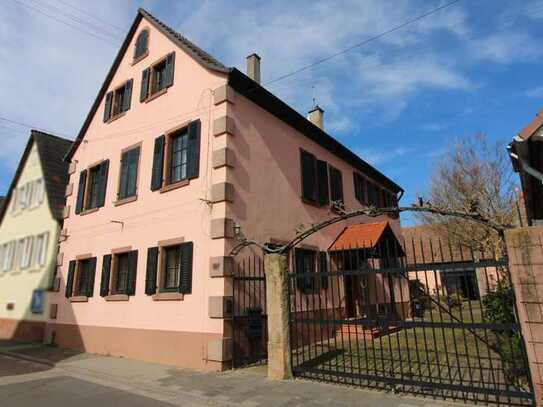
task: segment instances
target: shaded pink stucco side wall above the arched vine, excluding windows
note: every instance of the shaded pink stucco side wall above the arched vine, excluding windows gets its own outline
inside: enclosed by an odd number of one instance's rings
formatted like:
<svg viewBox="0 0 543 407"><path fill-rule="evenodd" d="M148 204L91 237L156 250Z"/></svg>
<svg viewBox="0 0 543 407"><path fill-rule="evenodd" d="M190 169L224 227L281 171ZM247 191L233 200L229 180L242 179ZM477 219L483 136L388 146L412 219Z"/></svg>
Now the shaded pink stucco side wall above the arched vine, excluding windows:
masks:
<svg viewBox="0 0 543 407"><path fill-rule="evenodd" d="M231 175L236 196L228 216L239 222L247 237L288 241L301 224L308 227L332 215L329 206L302 202L300 148L339 169L346 208L361 207L355 199L351 165L243 96L237 95L228 114L236 123L236 136L229 142L236 155ZM354 218L332 225L303 243L326 250L347 224L383 219L389 218ZM399 220L389 220L399 234Z"/></svg>

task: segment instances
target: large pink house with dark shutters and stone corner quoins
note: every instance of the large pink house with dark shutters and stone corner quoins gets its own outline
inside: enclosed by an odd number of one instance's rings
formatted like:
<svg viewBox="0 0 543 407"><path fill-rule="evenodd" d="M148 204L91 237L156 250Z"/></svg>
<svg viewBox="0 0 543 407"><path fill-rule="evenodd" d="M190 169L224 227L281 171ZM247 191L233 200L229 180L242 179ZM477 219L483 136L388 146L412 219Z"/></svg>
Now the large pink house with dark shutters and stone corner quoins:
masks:
<svg viewBox="0 0 543 407"><path fill-rule="evenodd" d="M306 119L259 84L257 55L247 65L138 11L66 157L49 342L227 368L235 232L288 241L331 202L396 205L402 189L328 135L320 108ZM346 226L305 241L304 264L316 269Z"/></svg>

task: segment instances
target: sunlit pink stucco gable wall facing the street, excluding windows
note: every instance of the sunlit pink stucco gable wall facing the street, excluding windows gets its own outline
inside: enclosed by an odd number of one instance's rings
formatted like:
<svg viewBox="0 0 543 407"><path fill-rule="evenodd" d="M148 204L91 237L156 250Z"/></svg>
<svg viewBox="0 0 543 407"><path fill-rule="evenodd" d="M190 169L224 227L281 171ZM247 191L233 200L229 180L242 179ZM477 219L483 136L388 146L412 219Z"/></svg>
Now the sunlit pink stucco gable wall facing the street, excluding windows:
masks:
<svg viewBox="0 0 543 407"><path fill-rule="evenodd" d="M209 238L212 209L205 203L212 182L210 154L212 140L210 123L220 116L223 107L212 104L212 90L225 83L219 74L205 70L177 48L145 20L141 28L150 30L149 55L132 65L134 46L115 73L108 90L113 90L133 78L131 108L123 117L103 122L104 102L77 149L72 162L76 170L70 176L73 193L67 198L70 216L64 227L69 238L60 245L63 263L59 269L61 291L55 322L104 327L172 330L185 332L221 333L222 321L205 318L207 299L224 294L223 279L209 278L210 256L222 255L224 243ZM139 30L138 30L139 31ZM135 41L135 37L134 37ZM134 42L133 41L133 42ZM174 85L166 94L148 102L139 100L142 70L168 53L175 51ZM84 80L84 78L82 78ZM185 122L201 120L200 176L190 184L166 193L152 192L151 169L154 139ZM138 198L122 206L114 206L120 170L121 150L142 143L138 179ZM79 172L104 159L110 160L105 206L88 215L75 215ZM112 221L124 222L124 226ZM184 237L194 242L192 294L183 301L156 302L145 295L145 264L147 248L159 240ZM106 302L99 295L102 256L118 247L132 246L139 250L136 295L125 302ZM76 256L91 253L97 257L94 297L87 303L70 303L64 298L64 281L68 262Z"/></svg>

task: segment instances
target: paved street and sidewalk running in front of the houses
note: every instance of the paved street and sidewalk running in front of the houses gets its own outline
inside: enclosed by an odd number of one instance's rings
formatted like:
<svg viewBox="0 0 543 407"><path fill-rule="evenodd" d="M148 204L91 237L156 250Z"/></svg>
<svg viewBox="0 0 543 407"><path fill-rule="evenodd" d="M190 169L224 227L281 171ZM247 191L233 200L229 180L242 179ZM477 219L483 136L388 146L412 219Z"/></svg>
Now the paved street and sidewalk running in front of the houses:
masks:
<svg viewBox="0 0 543 407"><path fill-rule="evenodd" d="M268 381L265 367L201 373L0 341L0 405L441 407L451 404L302 380Z"/></svg>

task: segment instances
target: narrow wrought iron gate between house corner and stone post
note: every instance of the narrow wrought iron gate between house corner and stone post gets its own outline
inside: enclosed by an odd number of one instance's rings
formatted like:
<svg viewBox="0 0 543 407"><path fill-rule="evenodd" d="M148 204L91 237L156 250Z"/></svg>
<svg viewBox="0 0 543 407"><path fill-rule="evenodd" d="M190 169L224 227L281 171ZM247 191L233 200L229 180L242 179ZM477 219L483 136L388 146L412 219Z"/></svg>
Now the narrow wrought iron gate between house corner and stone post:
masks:
<svg viewBox="0 0 543 407"><path fill-rule="evenodd" d="M233 276L233 366L265 364L268 355L266 279L259 256L237 260Z"/></svg>

